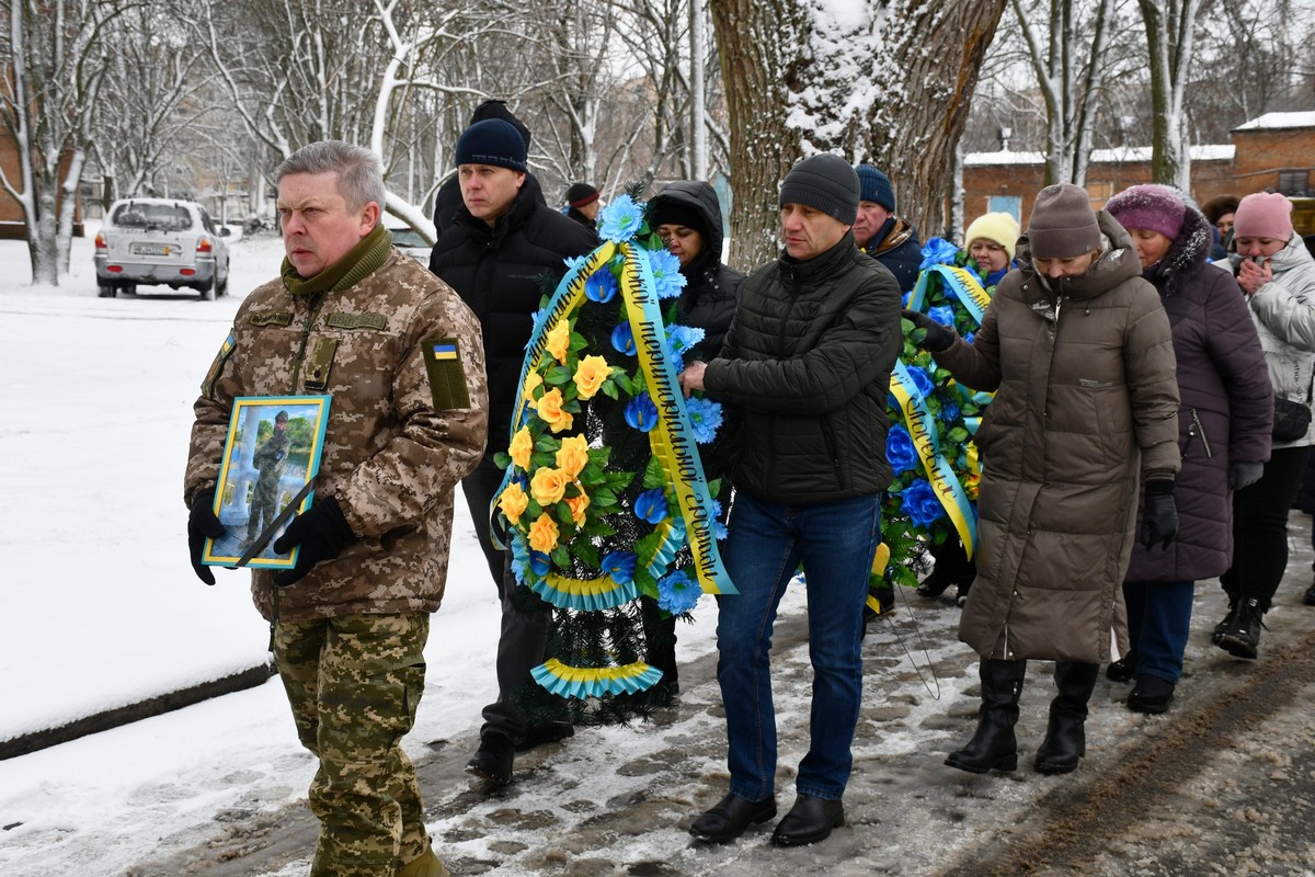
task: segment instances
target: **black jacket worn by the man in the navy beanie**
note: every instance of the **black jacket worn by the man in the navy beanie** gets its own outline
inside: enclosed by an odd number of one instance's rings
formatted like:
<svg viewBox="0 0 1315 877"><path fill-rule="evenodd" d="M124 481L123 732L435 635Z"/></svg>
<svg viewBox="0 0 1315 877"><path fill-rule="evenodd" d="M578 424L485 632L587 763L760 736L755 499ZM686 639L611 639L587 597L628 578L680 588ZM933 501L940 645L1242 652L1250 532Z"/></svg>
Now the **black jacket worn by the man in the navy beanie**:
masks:
<svg viewBox="0 0 1315 877"><path fill-rule="evenodd" d="M484 334L489 454L508 446L521 363L539 300L565 273L565 259L596 246L593 231L543 205L539 184L529 175L492 229L462 204L439 234L429 268L475 312Z"/></svg>

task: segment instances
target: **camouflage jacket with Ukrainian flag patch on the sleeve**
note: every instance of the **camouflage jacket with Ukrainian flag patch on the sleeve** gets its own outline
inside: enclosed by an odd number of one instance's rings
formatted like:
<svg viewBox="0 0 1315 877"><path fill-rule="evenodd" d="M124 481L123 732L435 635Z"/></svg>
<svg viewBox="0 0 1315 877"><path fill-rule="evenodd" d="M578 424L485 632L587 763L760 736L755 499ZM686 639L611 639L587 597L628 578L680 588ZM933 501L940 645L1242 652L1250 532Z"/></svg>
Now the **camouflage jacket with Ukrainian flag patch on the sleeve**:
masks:
<svg viewBox="0 0 1315 877"><path fill-rule="evenodd" d="M426 356L455 341L438 384ZM316 497L335 497L358 540L279 593L295 622L356 613L434 611L451 546L452 489L484 454L488 389L480 325L442 280L396 249L346 289L293 296L272 280L246 297L195 405L183 494L218 479L238 396L329 394ZM455 401L454 401L455 400ZM459 406L458 406L459 405ZM274 573L251 593L275 615Z"/></svg>

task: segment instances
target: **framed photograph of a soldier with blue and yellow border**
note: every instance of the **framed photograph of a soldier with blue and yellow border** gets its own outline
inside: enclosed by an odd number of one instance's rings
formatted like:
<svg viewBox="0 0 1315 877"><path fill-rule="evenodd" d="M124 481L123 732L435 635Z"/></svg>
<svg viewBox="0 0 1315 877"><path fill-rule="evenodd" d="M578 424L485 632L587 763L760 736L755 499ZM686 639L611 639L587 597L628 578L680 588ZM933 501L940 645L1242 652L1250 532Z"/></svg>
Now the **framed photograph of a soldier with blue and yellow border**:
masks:
<svg viewBox="0 0 1315 877"><path fill-rule="evenodd" d="M297 563L297 548L279 555L272 546L288 522L312 505L309 488L320 472L329 402L329 396L233 400L214 492L214 514L226 533L205 540L201 563L271 569Z"/></svg>

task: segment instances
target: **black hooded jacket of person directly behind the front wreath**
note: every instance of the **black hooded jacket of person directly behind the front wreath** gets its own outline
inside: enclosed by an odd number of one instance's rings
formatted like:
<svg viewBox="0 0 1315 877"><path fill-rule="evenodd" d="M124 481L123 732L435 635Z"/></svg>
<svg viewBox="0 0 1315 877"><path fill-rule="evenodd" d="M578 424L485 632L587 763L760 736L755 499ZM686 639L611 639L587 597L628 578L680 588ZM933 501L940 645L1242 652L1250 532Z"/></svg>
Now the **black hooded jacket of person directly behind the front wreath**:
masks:
<svg viewBox="0 0 1315 877"><path fill-rule="evenodd" d="M707 362L722 350L744 275L722 264L722 204L717 189L701 180L677 180L648 201L648 214L656 216L664 205L692 209L704 220L702 227L694 229L704 238L704 249L680 270L685 289L676 304L676 320L705 333L686 360Z"/></svg>

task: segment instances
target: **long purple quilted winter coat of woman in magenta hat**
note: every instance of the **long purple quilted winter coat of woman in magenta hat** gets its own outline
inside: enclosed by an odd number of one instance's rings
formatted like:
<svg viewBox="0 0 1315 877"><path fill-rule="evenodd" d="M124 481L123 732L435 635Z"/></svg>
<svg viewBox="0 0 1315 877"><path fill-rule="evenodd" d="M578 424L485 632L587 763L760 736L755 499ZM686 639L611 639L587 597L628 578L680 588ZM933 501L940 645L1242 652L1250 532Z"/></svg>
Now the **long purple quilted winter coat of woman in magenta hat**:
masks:
<svg viewBox="0 0 1315 877"><path fill-rule="evenodd" d="M1173 327L1182 469L1174 490L1178 538L1151 551L1137 542L1128 581L1197 581L1228 569L1228 462L1269 459L1274 393L1265 355L1237 281L1206 262L1210 245L1210 224L1189 206L1169 251L1143 271Z"/></svg>

